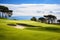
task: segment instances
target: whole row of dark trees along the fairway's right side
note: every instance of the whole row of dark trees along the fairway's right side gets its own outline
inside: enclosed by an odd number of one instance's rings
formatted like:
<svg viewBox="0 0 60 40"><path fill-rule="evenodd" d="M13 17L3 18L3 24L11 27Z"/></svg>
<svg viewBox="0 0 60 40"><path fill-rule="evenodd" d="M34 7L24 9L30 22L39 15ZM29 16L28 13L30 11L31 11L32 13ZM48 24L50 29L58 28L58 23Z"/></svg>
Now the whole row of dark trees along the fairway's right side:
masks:
<svg viewBox="0 0 60 40"><path fill-rule="evenodd" d="M38 19L36 17L32 17L31 20L38 21L41 23L54 24L56 23L57 17L54 15L44 15L43 17L40 17ZM57 22L60 24L60 20L57 20Z"/></svg>

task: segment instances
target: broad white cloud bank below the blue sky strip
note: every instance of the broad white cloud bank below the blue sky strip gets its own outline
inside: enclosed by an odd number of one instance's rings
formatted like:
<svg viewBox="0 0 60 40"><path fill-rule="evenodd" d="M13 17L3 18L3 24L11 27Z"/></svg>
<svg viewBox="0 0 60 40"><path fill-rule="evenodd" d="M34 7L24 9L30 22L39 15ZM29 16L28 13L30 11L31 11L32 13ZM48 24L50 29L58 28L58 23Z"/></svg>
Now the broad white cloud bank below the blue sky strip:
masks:
<svg viewBox="0 0 60 40"><path fill-rule="evenodd" d="M1 4L13 10L13 16L43 16L53 14L60 17L59 4ZM53 11L50 13L50 11Z"/></svg>

